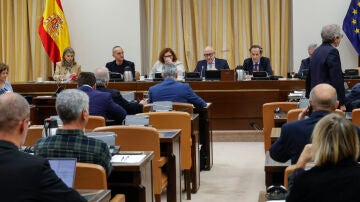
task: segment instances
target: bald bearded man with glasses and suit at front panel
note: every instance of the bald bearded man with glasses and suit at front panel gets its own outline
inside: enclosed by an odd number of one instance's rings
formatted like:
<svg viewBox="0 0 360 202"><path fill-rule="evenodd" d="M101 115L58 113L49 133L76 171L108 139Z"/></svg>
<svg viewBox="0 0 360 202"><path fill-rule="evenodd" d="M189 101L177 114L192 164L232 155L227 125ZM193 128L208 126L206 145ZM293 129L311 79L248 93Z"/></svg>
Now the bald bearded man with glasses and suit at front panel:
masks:
<svg viewBox="0 0 360 202"><path fill-rule="evenodd" d="M229 69L229 64L226 60L216 58L215 50L211 46L206 46L204 49L205 60L200 60L196 64L194 72L200 72L202 77L205 77L206 70L222 70Z"/></svg>

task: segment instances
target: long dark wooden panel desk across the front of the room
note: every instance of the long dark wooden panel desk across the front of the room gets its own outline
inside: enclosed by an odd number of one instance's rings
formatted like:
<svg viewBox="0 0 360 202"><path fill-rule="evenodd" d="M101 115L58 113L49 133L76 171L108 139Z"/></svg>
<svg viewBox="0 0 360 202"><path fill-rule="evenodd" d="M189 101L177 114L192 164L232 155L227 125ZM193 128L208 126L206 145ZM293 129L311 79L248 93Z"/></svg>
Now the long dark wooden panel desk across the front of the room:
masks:
<svg viewBox="0 0 360 202"><path fill-rule="evenodd" d="M351 88L359 79L346 80ZM108 88L135 91L141 99L143 92L159 82L118 82ZM304 80L267 81L194 81L188 82L206 102L212 103L211 120L214 130L248 130L251 122L262 127L262 105L267 102L285 101L294 90L304 90ZM58 87L76 88L76 83L56 84L13 83L15 92L23 95L51 95Z"/></svg>

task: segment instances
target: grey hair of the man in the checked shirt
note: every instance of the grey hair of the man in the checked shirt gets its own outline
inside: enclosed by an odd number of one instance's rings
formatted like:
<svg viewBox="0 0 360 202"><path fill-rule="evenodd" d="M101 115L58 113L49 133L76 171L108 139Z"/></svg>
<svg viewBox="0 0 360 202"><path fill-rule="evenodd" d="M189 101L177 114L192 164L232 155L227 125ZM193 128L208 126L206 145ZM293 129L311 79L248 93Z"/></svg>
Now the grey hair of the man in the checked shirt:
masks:
<svg viewBox="0 0 360 202"><path fill-rule="evenodd" d="M56 98L56 112L64 124L78 119L84 109L89 111L89 96L80 90L63 90Z"/></svg>

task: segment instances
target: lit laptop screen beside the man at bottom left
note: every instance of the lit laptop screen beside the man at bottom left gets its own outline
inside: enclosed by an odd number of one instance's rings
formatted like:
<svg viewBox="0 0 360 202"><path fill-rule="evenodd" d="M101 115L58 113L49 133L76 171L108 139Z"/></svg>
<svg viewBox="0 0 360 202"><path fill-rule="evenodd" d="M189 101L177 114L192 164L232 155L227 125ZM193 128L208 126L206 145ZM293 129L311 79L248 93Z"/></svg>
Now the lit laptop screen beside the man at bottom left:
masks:
<svg viewBox="0 0 360 202"><path fill-rule="evenodd" d="M74 187L76 158L48 158L51 169L70 188Z"/></svg>

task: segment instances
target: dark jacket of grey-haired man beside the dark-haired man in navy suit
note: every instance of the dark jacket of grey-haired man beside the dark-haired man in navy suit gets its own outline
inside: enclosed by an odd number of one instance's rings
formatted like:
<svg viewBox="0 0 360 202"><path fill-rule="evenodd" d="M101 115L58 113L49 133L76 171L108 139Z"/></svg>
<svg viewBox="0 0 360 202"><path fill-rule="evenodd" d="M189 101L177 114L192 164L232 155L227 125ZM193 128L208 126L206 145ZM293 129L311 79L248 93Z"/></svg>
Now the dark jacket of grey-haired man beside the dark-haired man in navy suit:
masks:
<svg viewBox="0 0 360 202"><path fill-rule="evenodd" d="M96 90L110 93L114 102L122 106L126 110L127 114L137 114L143 112L142 104L136 102L128 102L122 97L120 91L118 90L105 88L105 87L96 87Z"/></svg>

